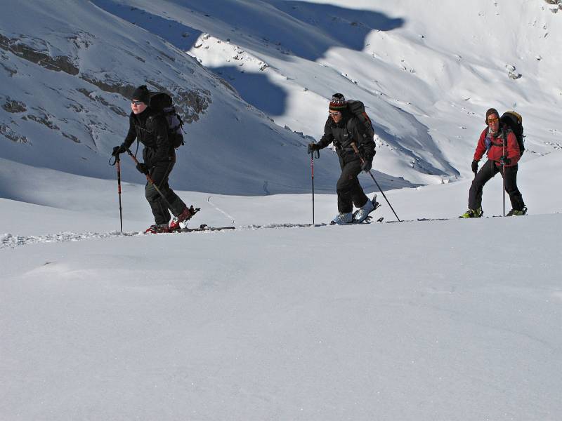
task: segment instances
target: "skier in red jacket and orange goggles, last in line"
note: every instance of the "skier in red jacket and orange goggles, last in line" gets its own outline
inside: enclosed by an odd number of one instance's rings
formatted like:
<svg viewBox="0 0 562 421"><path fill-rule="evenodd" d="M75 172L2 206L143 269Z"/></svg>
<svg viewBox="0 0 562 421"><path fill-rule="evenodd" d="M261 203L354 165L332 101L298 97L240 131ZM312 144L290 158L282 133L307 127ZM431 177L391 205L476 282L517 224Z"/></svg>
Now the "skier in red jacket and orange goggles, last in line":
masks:
<svg viewBox="0 0 562 421"><path fill-rule="evenodd" d="M521 158L519 144L513 131L507 126L500 128L499 113L495 108L486 112L485 128L478 139L476 152L472 161L472 172L475 173L474 180L469 192L469 210L461 215L461 218L480 218L482 211L482 190L484 185L497 173L502 174L505 180L505 191L509 194L511 210L507 214L525 215L527 208L523 202L523 196L517 188L517 162ZM505 143L505 144L504 144ZM486 152L488 161L478 171L478 161Z"/></svg>

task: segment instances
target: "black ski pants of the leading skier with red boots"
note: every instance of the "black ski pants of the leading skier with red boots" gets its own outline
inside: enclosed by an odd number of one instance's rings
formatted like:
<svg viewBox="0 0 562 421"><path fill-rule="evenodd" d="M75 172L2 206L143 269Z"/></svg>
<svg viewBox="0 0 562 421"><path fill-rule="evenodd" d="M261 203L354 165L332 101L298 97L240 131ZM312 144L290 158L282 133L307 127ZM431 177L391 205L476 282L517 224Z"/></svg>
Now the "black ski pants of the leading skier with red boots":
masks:
<svg viewBox="0 0 562 421"><path fill-rule="evenodd" d="M166 201L171 206L171 210L174 215L179 215L185 209L185 203L180 199L180 197L174 193L168 184L168 177L171 173L174 164L176 163L176 157L171 156L170 161L159 162L152 168L150 168L150 178L155 182L160 192L166 198ZM145 186L145 196L146 200L150 204L150 209L152 209L152 215L154 215L154 221L157 225L164 225L170 221L170 212L166 202L162 199L162 196L157 192L154 185L150 182L146 183Z"/></svg>

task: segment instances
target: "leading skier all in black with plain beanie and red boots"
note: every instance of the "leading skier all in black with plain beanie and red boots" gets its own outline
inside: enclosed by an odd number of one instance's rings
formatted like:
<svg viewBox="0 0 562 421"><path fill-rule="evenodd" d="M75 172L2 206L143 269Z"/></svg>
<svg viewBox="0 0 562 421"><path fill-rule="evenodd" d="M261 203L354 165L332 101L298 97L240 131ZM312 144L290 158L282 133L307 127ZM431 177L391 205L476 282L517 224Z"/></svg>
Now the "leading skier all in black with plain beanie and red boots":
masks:
<svg viewBox="0 0 562 421"><path fill-rule="evenodd" d="M150 91L143 85L133 92L131 99L131 114L129 115L129 133L122 145L113 148L112 155L126 152L133 142L138 139L144 145L143 160L136 169L150 175L158 189L171 206L174 218L170 221L170 213L166 202L159 195L154 185L146 183L145 196L152 209L155 225L150 226L146 233L171 232L180 228L180 222L192 217L190 208L174 193L168 184L168 177L176 163L176 152L168 139L168 123L164 116L157 115L148 103Z"/></svg>

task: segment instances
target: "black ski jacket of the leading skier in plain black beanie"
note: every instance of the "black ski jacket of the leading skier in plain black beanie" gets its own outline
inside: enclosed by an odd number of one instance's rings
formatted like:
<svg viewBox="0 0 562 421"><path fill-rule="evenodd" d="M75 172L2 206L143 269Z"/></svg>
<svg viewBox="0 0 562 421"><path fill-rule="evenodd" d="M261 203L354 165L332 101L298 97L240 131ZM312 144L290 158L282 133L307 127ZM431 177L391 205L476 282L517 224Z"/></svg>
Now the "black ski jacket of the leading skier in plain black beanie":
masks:
<svg viewBox="0 0 562 421"><path fill-rule="evenodd" d="M135 140L144 145L143 160L148 167L168 163L174 158L174 147L168 139L168 123L164 116L158 116L150 107L141 114L131 112L129 115L129 133L123 146L129 148Z"/></svg>

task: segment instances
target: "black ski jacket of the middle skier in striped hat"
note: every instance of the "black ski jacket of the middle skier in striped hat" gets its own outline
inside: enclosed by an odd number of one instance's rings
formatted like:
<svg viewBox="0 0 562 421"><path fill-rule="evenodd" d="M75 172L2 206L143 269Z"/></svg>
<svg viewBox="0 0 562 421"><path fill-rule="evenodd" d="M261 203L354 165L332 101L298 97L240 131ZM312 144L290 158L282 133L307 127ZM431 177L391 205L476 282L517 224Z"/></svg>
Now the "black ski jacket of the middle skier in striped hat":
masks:
<svg viewBox="0 0 562 421"><path fill-rule="evenodd" d="M374 156L374 140L369 136L363 136L365 129L363 128L357 117L348 112L344 112L343 118L339 123L335 123L332 117L328 117L324 126L324 135L318 142L320 149L327 147L330 143L334 143L336 153L339 158L348 163L360 159L358 154L351 147L351 143L355 142L359 149L359 153L366 161L370 161Z"/></svg>

